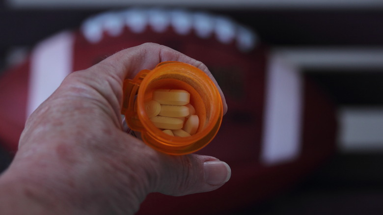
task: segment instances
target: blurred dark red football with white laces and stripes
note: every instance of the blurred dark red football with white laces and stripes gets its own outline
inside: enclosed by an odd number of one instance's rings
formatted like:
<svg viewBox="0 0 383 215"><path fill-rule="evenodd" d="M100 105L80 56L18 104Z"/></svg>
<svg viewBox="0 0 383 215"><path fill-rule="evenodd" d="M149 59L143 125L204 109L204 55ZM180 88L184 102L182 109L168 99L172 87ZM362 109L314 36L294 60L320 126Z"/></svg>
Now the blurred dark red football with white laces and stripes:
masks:
<svg viewBox="0 0 383 215"><path fill-rule="evenodd" d="M129 8L89 17L78 29L36 44L25 61L2 73L0 147L17 151L28 115L68 74L153 42L203 62L218 81L228 112L216 138L197 153L227 162L232 178L208 193L152 193L138 214L222 214L270 198L335 152L335 105L273 56L255 30L219 14L182 9Z"/></svg>

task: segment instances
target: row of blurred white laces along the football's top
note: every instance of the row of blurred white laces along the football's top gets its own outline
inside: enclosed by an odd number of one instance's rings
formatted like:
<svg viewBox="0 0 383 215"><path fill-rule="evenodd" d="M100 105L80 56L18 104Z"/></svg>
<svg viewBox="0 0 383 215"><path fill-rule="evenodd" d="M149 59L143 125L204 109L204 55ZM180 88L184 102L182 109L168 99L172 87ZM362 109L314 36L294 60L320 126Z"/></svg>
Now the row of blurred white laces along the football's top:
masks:
<svg viewBox="0 0 383 215"><path fill-rule="evenodd" d="M214 34L223 44L235 40L238 49L243 52L251 51L257 43L257 36L252 30L228 17L183 9L130 8L105 12L85 20L81 29L89 42L98 43L104 31L110 36L119 36L125 26L134 33L142 33L148 26L157 33L163 33L171 26L180 35L187 35L193 30L198 37L206 39Z"/></svg>

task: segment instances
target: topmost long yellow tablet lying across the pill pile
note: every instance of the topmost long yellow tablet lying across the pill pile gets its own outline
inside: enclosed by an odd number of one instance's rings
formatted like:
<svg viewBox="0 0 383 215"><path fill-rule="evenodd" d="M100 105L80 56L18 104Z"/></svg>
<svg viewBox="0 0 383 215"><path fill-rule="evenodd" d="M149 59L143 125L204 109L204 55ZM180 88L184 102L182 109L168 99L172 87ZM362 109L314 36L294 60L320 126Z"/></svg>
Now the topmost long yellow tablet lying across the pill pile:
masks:
<svg viewBox="0 0 383 215"><path fill-rule="evenodd" d="M179 89L159 89L153 92L153 100L161 105L186 105L190 102L190 93Z"/></svg>

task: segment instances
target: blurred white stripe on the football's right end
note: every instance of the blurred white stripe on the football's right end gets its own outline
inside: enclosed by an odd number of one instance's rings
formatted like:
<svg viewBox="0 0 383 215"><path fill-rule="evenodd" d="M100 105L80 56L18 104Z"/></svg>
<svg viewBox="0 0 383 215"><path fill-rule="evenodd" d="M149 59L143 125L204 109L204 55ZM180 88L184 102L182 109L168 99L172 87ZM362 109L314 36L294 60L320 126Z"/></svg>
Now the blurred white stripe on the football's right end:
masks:
<svg viewBox="0 0 383 215"><path fill-rule="evenodd" d="M267 165L292 161L301 151L301 75L274 54L266 84L261 161Z"/></svg>

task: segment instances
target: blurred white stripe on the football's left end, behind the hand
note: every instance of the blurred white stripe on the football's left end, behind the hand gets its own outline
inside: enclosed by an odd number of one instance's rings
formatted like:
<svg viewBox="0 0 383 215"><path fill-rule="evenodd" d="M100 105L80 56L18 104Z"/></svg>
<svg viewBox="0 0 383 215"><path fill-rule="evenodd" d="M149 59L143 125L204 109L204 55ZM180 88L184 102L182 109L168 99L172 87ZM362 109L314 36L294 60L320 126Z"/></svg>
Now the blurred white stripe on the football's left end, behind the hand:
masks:
<svg viewBox="0 0 383 215"><path fill-rule="evenodd" d="M72 72L73 34L61 32L39 43L31 55L27 100L29 116Z"/></svg>

